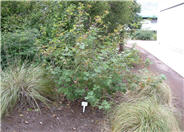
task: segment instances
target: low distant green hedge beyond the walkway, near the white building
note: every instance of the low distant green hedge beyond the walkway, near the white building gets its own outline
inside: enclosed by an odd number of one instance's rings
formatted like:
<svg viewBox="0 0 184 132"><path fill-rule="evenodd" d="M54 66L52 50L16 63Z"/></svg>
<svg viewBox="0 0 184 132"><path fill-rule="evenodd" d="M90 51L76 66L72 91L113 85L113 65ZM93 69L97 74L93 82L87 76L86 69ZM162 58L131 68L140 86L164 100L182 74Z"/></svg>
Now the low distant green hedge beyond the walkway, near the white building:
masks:
<svg viewBox="0 0 184 132"><path fill-rule="evenodd" d="M150 30L137 30L132 37L135 40L156 40L156 32Z"/></svg>

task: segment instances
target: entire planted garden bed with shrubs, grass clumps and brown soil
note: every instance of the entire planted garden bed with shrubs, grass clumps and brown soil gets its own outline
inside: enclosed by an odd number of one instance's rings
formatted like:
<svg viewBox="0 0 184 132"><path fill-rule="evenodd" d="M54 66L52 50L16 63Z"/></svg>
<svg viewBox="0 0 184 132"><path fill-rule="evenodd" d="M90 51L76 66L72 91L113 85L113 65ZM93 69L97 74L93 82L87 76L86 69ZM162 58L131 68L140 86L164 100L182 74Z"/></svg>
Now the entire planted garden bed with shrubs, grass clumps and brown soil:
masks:
<svg viewBox="0 0 184 132"><path fill-rule="evenodd" d="M155 74L170 70L123 47L139 10L135 1L3 2L2 131L179 132L166 77ZM168 81L182 108L181 82Z"/></svg>

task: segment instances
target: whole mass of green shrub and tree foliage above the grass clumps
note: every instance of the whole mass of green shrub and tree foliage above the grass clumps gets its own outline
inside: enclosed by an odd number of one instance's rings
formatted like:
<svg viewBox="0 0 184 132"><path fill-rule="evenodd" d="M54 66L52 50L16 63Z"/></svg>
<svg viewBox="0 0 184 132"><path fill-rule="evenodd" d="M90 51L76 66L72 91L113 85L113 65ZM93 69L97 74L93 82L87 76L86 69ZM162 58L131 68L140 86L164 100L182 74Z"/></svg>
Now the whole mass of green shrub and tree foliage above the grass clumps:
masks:
<svg viewBox="0 0 184 132"><path fill-rule="evenodd" d="M124 74L139 62L135 50L117 53L139 9L135 1L4 1L1 64L42 63L58 93L108 109L110 96L126 91Z"/></svg>

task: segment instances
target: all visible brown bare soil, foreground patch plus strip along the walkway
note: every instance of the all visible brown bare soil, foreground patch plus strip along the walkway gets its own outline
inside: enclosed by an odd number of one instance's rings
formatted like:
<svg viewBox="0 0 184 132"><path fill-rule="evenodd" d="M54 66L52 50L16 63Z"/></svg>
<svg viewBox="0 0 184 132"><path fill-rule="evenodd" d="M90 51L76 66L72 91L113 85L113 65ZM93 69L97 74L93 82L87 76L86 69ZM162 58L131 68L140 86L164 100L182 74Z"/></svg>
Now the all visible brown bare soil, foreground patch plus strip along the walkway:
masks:
<svg viewBox="0 0 184 132"><path fill-rule="evenodd" d="M148 69L157 74L165 74L173 95L173 105L180 127L184 130L184 78L159 59L136 47L142 59L149 58ZM142 67L139 67L142 68ZM80 101L53 105L51 110L41 108L42 113L28 108L14 110L1 120L2 132L103 132L105 115L103 111L88 106L82 113Z"/></svg>

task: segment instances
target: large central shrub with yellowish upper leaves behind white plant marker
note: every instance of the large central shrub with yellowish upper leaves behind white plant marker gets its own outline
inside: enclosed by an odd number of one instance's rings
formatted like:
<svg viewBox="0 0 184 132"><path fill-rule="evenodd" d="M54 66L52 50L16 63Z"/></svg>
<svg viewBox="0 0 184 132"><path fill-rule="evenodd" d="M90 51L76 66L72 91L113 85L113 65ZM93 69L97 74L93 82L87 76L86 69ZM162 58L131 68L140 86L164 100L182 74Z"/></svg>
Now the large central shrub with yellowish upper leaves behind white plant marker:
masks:
<svg viewBox="0 0 184 132"><path fill-rule="evenodd" d="M121 72L128 72L133 63L138 63L137 52L131 49L117 53L123 27L118 26L114 33L106 35L103 18L108 13L96 16L89 29L82 23L89 17L82 3L79 7L68 6L63 14L66 15L62 23L53 23L55 28L50 30L50 37L43 28L37 41L45 67L55 77L58 92L67 99L85 99L92 106L109 109L109 96L126 91ZM70 18L74 19L68 30L65 27Z"/></svg>

